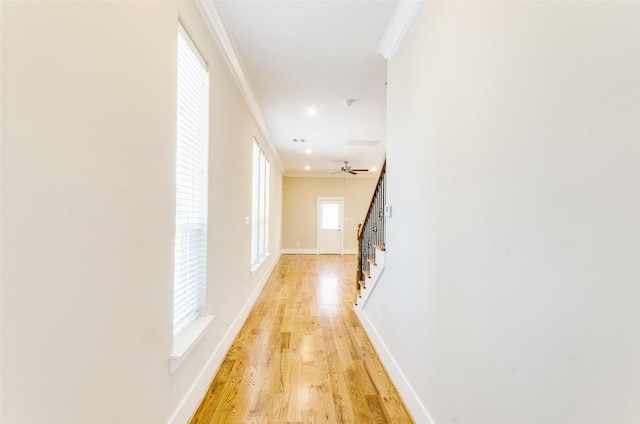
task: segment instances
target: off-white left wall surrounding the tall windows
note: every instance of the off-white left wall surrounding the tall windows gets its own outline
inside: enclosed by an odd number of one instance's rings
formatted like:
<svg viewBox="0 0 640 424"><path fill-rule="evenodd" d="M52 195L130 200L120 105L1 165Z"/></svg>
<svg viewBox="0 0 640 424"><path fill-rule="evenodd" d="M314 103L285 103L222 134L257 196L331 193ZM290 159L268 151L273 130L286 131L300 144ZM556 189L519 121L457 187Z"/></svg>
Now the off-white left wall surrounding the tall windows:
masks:
<svg viewBox="0 0 640 424"><path fill-rule="evenodd" d="M191 2L1 7L0 421L188 416L277 259L251 274L244 219L258 128ZM178 19L211 75L216 318L170 375ZM282 178L272 169L278 252Z"/></svg>

